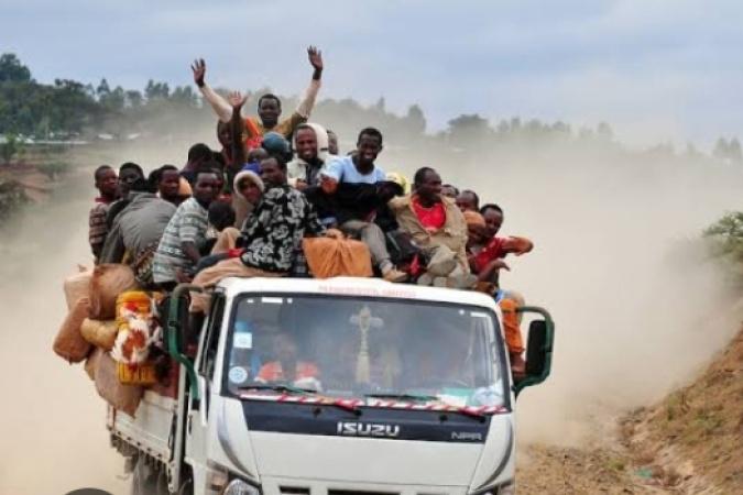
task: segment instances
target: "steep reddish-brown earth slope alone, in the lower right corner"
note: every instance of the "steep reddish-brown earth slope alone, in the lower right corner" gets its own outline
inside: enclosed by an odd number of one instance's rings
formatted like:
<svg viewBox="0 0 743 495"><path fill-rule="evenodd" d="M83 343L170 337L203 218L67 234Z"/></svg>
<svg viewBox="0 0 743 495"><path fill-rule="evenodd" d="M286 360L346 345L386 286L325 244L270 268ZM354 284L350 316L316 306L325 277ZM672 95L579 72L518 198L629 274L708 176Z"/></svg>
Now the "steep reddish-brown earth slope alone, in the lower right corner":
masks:
<svg viewBox="0 0 743 495"><path fill-rule="evenodd" d="M691 385L625 421L629 447L684 493L743 493L743 331Z"/></svg>

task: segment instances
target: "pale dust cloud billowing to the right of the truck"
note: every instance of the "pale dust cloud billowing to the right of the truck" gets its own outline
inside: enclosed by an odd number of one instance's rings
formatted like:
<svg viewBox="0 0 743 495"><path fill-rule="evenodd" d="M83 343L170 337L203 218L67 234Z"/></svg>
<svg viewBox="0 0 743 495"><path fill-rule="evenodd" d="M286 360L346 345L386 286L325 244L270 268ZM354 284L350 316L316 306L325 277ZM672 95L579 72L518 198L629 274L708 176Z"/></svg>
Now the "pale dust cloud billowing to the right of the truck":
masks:
<svg viewBox="0 0 743 495"><path fill-rule="evenodd" d="M535 242L509 257L502 286L557 326L551 376L518 399L522 442L600 439L618 415L688 383L737 331L743 312L700 234L740 208L743 170L560 146L458 165L440 167L445 182L473 186L505 210L503 234Z"/></svg>

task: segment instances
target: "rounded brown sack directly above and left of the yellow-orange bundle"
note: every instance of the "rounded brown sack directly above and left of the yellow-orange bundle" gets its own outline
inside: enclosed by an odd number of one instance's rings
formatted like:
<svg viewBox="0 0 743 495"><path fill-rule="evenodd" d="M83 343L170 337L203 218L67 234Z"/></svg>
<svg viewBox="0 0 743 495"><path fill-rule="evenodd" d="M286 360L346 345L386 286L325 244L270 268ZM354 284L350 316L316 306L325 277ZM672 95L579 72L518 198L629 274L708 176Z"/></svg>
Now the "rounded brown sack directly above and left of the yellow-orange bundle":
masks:
<svg viewBox="0 0 743 495"><path fill-rule="evenodd" d="M120 264L98 265L90 278L90 311L94 320L111 320L116 317L116 299L119 294L136 288L134 272Z"/></svg>

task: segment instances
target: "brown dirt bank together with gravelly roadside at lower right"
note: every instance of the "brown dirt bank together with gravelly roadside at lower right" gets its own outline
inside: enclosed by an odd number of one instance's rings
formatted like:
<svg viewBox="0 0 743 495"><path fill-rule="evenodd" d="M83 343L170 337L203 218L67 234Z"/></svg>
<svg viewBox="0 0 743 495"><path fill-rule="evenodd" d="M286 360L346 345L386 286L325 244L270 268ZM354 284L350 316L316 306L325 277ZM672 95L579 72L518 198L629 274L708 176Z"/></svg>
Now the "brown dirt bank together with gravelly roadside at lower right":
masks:
<svg viewBox="0 0 743 495"><path fill-rule="evenodd" d="M743 493L743 330L690 385L593 446L527 446L522 494Z"/></svg>

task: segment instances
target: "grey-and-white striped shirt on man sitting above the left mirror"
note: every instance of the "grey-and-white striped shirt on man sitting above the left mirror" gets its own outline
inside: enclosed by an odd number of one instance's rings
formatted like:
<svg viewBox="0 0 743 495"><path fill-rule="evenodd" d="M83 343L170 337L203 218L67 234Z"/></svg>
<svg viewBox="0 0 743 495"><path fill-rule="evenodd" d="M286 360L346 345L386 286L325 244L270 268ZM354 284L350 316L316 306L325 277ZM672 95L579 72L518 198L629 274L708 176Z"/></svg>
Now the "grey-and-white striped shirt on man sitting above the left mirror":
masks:
<svg viewBox="0 0 743 495"><path fill-rule="evenodd" d="M204 242L208 227L208 211L195 198L188 198L178 206L165 228L153 261L153 279L156 284L175 282L177 268L190 272L196 266L183 252L184 242L199 245Z"/></svg>

